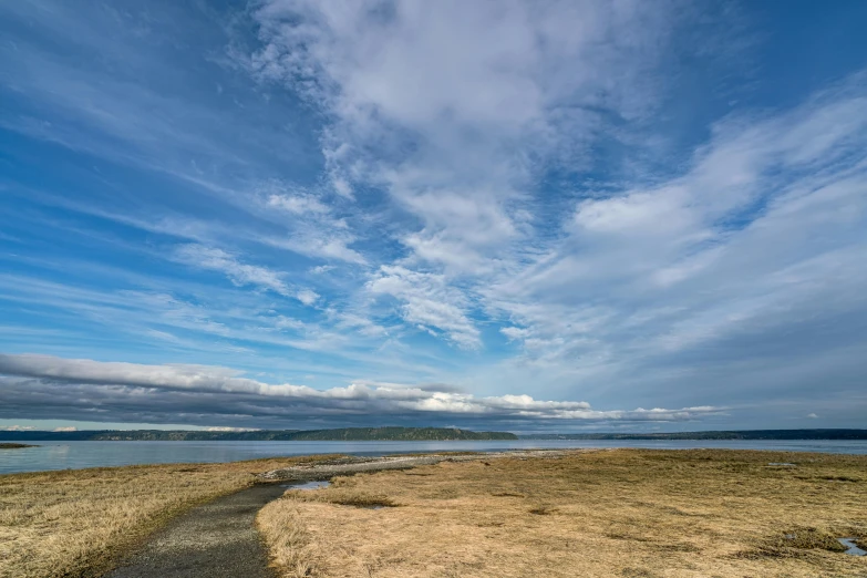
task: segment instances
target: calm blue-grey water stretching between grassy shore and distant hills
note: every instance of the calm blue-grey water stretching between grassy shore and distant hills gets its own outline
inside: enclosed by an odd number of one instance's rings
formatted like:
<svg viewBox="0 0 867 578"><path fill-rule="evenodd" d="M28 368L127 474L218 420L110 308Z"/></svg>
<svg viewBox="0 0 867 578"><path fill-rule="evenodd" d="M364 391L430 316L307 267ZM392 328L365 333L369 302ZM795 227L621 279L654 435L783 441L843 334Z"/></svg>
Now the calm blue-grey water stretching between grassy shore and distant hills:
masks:
<svg viewBox="0 0 867 578"><path fill-rule="evenodd" d="M597 441L512 440L483 442L27 442L40 447L0 450L0 474L82 467L192 462L236 462L311 454L384 455L414 452L502 452L569 447L696 447L867 454L867 441Z"/></svg>

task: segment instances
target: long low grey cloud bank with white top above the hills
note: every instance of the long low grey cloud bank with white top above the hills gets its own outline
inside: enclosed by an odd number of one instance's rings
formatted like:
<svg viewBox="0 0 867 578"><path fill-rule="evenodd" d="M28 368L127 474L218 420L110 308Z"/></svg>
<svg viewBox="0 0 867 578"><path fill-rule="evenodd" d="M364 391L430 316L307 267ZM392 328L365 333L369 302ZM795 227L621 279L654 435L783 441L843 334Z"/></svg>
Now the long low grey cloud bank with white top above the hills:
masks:
<svg viewBox="0 0 867 578"><path fill-rule="evenodd" d="M257 427L293 420L359 423L401 416L525 424L550 420L657 422L698 420L720 412L710 406L600 411L586 402L540 401L529 395L477 398L435 385L363 381L316 390L268 384L218 367L143 365L28 354L0 355L0 416L34 419L65 407L68 419L89 414L102 421L136 416L138 421L177 423L186 416L186 423L221 419Z"/></svg>

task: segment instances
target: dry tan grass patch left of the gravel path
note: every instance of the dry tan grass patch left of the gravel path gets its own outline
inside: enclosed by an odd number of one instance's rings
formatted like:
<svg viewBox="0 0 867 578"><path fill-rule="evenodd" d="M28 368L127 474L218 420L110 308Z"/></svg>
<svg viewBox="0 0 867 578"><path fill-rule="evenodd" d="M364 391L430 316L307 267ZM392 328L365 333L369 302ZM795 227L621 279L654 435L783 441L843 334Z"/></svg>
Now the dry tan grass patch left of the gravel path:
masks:
<svg viewBox="0 0 867 578"><path fill-rule="evenodd" d="M318 458L0 476L0 577L100 576L171 517L251 485L255 473L311 460Z"/></svg>

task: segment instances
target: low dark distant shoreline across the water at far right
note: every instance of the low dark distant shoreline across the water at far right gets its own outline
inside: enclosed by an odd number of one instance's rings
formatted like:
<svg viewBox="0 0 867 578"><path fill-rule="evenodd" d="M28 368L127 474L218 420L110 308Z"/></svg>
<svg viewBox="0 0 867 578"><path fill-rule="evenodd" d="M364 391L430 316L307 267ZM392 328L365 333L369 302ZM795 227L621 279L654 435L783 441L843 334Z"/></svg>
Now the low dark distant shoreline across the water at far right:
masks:
<svg viewBox="0 0 867 578"><path fill-rule="evenodd" d="M672 433L533 434L522 440L867 440L867 430L743 430Z"/></svg>

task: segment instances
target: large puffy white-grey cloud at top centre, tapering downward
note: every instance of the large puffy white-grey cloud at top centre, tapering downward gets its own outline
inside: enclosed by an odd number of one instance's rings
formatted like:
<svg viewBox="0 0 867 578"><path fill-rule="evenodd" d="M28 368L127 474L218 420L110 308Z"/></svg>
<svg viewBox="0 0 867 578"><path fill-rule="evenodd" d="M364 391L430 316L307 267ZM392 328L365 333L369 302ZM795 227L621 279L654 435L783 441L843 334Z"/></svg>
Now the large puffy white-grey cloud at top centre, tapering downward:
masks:
<svg viewBox="0 0 867 578"><path fill-rule="evenodd" d="M244 64L326 111L338 190L384 186L422 223L402 236L413 255L465 275L525 238L537 165L584 163L594 111L653 109L646 68L677 20L632 1L271 0L255 18L262 47Z"/></svg>

